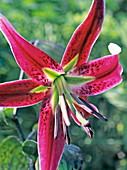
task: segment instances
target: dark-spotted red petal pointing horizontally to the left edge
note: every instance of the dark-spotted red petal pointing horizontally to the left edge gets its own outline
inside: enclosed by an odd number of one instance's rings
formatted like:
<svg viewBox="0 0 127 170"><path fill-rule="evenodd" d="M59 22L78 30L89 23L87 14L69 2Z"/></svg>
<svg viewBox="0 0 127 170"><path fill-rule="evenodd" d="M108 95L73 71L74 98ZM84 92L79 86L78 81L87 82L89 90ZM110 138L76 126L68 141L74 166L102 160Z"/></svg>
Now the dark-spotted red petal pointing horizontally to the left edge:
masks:
<svg viewBox="0 0 127 170"><path fill-rule="evenodd" d="M0 84L0 107L23 107L40 102L45 92L30 93L38 86L31 79Z"/></svg>

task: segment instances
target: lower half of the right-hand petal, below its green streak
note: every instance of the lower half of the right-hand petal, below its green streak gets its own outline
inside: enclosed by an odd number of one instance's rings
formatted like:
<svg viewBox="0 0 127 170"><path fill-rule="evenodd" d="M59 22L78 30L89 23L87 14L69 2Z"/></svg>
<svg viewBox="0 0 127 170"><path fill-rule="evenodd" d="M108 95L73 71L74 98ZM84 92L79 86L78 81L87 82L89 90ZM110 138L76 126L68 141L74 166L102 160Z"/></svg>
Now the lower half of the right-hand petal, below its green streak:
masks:
<svg viewBox="0 0 127 170"><path fill-rule="evenodd" d="M98 72L99 74L94 74L96 75L96 80L78 86L73 85L70 87L72 92L79 96L97 95L117 86L122 81L122 67L119 62L117 62L116 66L114 65L112 70L106 71L105 65L102 68L105 70L104 72L100 71Z"/></svg>

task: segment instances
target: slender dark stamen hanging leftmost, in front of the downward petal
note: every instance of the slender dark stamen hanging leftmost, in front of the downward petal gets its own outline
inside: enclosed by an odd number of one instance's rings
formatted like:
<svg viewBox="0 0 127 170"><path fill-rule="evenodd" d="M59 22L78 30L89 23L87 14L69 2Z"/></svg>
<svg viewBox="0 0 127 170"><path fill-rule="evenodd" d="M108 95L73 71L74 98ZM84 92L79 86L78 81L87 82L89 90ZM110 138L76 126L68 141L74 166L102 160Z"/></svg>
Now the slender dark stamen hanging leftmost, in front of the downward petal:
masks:
<svg viewBox="0 0 127 170"><path fill-rule="evenodd" d="M54 139L58 138L59 134L59 122L60 122L60 106L56 106L56 111L55 111L55 124L54 124Z"/></svg>

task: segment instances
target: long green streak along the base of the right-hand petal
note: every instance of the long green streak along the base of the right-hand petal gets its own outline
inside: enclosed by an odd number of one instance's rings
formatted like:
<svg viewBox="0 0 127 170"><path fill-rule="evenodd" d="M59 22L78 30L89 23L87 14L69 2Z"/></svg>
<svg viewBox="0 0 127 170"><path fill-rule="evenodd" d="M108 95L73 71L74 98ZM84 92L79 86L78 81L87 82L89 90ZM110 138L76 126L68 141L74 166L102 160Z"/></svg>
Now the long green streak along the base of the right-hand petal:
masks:
<svg viewBox="0 0 127 170"><path fill-rule="evenodd" d="M65 79L68 84L74 84L74 85L79 85L79 84L84 84L88 83L90 81L93 81L95 78L94 77L83 77L83 76L65 76Z"/></svg>

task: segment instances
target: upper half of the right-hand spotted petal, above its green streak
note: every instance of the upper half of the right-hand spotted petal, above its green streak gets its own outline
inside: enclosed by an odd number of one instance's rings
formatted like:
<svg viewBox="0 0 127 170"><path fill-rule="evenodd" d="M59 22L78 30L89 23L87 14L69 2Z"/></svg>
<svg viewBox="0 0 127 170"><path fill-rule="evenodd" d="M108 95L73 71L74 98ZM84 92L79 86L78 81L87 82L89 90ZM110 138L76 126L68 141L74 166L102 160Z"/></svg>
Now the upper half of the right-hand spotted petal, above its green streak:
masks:
<svg viewBox="0 0 127 170"><path fill-rule="evenodd" d="M103 77L112 72L117 67L118 62L118 55L104 56L75 67L69 72L69 75Z"/></svg>

